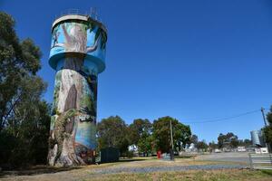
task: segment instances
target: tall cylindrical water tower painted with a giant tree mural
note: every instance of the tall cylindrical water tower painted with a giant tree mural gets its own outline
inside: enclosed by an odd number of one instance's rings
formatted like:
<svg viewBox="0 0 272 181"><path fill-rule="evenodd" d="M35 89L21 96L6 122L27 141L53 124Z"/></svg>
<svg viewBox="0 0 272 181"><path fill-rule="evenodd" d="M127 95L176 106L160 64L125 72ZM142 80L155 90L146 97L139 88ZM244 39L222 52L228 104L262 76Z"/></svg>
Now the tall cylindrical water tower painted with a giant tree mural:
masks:
<svg viewBox="0 0 272 181"><path fill-rule="evenodd" d="M56 71L48 163L94 161L97 76L105 69L107 30L92 15L66 14L52 26L50 66Z"/></svg>

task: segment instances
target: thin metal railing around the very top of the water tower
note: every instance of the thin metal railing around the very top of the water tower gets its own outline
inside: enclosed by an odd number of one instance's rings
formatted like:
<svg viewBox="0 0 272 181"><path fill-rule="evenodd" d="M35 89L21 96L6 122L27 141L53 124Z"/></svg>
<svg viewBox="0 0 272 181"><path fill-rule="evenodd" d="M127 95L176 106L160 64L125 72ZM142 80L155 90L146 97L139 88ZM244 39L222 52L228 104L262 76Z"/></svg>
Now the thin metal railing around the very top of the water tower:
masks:
<svg viewBox="0 0 272 181"><path fill-rule="evenodd" d="M102 22L102 18L98 15L97 9L91 7L90 11L81 11L79 9L67 9L63 12L61 12L61 14L57 14L54 16L53 22L62 17L63 15L84 15L84 16L89 16L91 17L93 20L100 22L101 24L105 25L105 22Z"/></svg>

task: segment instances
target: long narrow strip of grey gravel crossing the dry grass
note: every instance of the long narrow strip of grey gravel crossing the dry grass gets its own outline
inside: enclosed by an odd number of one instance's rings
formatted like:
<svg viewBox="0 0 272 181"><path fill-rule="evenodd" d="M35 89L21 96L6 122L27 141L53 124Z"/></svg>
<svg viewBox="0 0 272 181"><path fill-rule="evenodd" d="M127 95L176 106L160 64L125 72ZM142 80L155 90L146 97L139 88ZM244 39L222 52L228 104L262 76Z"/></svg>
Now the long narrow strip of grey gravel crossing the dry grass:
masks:
<svg viewBox="0 0 272 181"><path fill-rule="evenodd" d="M166 171L184 171L184 170L211 170L211 169L230 169L246 168L241 165L199 165L199 166L171 166L171 167L111 167L93 171L95 174L116 174L116 173L151 173Z"/></svg>

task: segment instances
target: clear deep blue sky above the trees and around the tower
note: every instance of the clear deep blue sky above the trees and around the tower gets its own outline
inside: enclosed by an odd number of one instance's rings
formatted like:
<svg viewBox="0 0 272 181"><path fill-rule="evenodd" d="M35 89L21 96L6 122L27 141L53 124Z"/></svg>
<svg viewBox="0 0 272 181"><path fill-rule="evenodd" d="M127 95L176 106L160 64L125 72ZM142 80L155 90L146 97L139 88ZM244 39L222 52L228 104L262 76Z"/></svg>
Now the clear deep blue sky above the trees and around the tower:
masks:
<svg viewBox="0 0 272 181"><path fill-rule="evenodd" d="M44 53L39 75L53 100L48 65L51 24L66 9L100 10L109 30L106 71L99 76L98 120L171 116L181 122L224 118L272 104L272 3L269 0L1 0L20 38ZM2 25L2 24L0 24ZM202 119L204 118L204 119ZM232 131L250 138L260 112L189 126L200 139Z"/></svg>

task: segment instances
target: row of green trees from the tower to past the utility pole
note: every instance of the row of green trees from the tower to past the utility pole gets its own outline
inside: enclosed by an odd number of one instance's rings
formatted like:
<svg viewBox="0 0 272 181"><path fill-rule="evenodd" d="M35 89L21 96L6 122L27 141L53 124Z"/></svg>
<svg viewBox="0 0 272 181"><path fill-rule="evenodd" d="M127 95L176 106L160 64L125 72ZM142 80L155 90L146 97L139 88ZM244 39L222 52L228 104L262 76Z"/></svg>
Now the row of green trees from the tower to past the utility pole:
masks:
<svg viewBox="0 0 272 181"><path fill-rule="evenodd" d="M190 143L189 126L180 123L178 119L169 116L155 119L134 119L130 125L119 116L102 119L98 123L98 149L119 148L121 156L127 156L129 146L134 146L144 155L151 155L160 150L170 152L170 122L172 126L173 145L175 151L180 151Z"/></svg>

